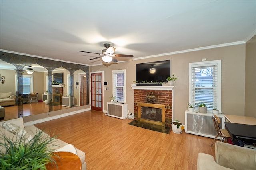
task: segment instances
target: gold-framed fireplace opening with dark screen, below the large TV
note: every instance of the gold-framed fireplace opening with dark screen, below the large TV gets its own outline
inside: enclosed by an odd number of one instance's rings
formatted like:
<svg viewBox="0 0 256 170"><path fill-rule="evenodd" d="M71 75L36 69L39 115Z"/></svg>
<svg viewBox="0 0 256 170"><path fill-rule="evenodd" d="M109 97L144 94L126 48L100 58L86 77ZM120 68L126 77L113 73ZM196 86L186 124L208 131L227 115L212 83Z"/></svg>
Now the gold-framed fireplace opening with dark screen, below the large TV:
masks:
<svg viewBox="0 0 256 170"><path fill-rule="evenodd" d="M165 105L138 103L138 120L164 126Z"/></svg>

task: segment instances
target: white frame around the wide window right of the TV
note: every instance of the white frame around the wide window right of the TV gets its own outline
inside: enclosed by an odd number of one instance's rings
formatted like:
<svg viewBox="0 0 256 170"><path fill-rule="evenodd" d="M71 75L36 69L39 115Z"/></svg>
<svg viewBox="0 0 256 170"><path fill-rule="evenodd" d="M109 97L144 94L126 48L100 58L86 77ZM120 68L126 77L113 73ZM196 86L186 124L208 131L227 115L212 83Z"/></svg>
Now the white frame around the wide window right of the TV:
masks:
<svg viewBox="0 0 256 170"><path fill-rule="evenodd" d="M192 104L192 68L194 67L200 67L200 66L213 66L217 65L217 101L216 104L217 109L221 112L221 60L213 60L213 61L202 61L202 62L195 62L195 63L189 63L189 103ZM194 104L193 104L194 105ZM196 106L197 107L197 106ZM212 109L208 109L208 112L211 112Z"/></svg>

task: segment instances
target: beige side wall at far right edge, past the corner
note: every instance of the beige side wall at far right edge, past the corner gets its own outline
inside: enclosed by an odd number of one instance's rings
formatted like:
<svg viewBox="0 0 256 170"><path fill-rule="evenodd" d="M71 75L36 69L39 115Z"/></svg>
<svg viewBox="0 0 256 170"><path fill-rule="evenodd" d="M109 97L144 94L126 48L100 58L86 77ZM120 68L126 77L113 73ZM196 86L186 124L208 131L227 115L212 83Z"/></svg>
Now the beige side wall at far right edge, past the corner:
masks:
<svg viewBox="0 0 256 170"><path fill-rule="evenodd" d="M246 43L245 115L256 117L256 35Z"/></svg>

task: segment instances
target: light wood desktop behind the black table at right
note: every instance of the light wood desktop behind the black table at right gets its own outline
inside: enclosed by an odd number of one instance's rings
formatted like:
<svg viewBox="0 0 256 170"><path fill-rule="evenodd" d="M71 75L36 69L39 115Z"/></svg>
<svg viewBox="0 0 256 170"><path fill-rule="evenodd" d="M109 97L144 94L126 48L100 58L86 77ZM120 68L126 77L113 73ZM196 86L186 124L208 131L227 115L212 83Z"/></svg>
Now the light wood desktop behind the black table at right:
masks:
<svg viewBox="0 0 256 170"><path fill-rule="evenodd" d="M226 117L226 121L230 123L256 125L255 117L237 116L237 115L225 115L225 117Z"/></svg>

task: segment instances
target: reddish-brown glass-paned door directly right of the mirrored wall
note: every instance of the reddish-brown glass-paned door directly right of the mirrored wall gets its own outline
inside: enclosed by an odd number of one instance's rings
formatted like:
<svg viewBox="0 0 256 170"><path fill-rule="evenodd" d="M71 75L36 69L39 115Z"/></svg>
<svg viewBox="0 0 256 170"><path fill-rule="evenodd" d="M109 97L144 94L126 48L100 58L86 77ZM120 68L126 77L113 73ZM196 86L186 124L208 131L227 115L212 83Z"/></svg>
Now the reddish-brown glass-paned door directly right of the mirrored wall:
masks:
<svg viewBox="0 0 256 170"><path fill-rule="evenodd" d="M91 109L102 111L102 73L91 74Z"/></svg>

